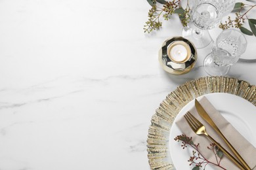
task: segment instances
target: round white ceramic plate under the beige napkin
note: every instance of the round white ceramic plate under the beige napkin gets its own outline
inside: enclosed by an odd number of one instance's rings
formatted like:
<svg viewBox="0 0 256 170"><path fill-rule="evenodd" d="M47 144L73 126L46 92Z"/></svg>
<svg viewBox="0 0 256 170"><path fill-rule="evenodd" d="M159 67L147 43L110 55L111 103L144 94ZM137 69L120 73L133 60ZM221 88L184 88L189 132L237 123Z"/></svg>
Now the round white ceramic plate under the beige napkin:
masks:
<svg viewBox="0 0 256 170"><path fill-rule="evenodd" d="M228 93L210 93L205 95L205 97L207 97L215 109L219 110L224 118L226 118L226 120L228 120L228 122L230 122L230 124L232 124L232 126L234 126L245 137L245 139L256 147L256 108L254 105L242 97ZM200 99L201 97L198 98ZM175 122L193 106L194 100L190 101L190 103L188 103L181 112L179 112L174 120L173 126L171 127L170 154L176 169L192 169L192 166L188 163L192 150L182 150L180 143L173 139L177 135L182 134ZM210 165L207 166L207 170L213 169Z"/></svg>

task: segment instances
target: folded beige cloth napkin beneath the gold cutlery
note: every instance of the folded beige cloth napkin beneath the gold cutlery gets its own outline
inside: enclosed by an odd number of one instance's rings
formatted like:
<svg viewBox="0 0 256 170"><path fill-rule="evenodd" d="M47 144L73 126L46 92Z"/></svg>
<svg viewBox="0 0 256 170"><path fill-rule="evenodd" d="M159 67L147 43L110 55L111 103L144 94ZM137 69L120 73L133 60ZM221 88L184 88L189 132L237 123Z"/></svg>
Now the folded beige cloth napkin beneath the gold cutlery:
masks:
<svg viewBox="0 0 256 170"><path fill-rule="evenodd" d="M219 127L223 135L228 139L228 141L236 148L240 156L244 158L244 160L247 162L249 167L251 169L256 169L256 148L252 146L214 107L211 105L211 103L207 100L206 97L203 97L200 99L200 104L202 105L203 109L209 114L209 116L213 119L213 122ZM232 151L228 148L226 143L224 143L223 139L217 135L217 133L201 118L201 116L198 114L196 107L193 107L191 110L189 110L191 114L193 114L202 124L205 126L205 129L215 141L221 144L230 154L234 156ZM182 133L187 135L188 137L193 137L193 141L195 144L200 143L200 150L203 150L202 154L205 156L205 158L208 158L209 160L216 162L215 156L213 152L209 149L207 149L207 146L209 146L211 141L204 135L196 135L194 131L188 126L188 123L186 122L184 116L180 120L176 122L177 126L181 129ZM239 169L232 163L232 161L228 160L226 156L223 156L221 160L221 165L225 167L226 169ZM215 167L215 169L219 169L219 167Z"/></svg>

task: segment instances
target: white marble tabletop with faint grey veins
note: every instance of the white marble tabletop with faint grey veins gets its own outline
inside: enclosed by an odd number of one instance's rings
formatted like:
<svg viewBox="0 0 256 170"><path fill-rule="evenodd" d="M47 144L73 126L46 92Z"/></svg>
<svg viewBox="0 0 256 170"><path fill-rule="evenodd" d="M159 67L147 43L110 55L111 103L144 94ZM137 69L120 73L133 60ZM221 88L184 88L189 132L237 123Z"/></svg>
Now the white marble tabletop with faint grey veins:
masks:
<svg viewBox="0 0 256 170"><path fill-rule="evenodd" d="M150 169L150 119L165 96L206 76L158 63L177 16L143 33L145 1L0 1L0 169ZM256 40L256 39L255 39ZM228 73L256 84L255 61Z"/></svg>

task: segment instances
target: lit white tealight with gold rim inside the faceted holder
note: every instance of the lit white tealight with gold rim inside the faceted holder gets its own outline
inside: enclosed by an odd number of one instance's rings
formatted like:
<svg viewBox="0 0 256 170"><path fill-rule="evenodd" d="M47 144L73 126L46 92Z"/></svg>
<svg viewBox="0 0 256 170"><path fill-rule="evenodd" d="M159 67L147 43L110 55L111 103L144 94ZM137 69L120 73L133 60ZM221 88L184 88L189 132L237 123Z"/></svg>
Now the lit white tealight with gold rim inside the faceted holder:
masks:
<svg viewBox="0 0 256 170"><path fill-rule="evenodd" d="M184 63L185 61L188 61L190 55L190 47L184 41L175 41L168 47L169 59L176 63Z"/></svg>

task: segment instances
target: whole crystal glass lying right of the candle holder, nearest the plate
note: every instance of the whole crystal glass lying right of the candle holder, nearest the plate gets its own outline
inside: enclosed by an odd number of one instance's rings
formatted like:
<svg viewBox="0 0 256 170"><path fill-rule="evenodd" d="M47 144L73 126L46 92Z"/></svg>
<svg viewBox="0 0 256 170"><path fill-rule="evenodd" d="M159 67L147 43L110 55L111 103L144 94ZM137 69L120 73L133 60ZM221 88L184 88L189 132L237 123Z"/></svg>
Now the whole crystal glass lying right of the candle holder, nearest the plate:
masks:
<svg viewBox="0 0 256 170"><path fill-rule="evenodd" d="M226 75L246 50L247 41L241 31L226 29L218 37L213 45L211 54L203 61L208 75Z"/></svg>

